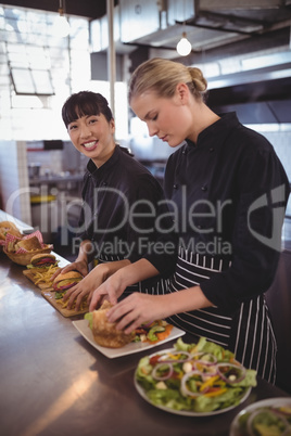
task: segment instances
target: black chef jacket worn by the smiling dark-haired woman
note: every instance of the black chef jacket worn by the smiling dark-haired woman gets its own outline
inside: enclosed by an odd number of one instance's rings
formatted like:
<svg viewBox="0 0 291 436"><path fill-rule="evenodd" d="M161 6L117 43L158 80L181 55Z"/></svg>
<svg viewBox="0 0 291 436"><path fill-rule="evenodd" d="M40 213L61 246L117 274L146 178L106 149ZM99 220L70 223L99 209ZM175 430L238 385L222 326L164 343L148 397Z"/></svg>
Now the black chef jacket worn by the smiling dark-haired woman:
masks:
<svg viewBox="0 0 291 436"><path fill-rule="evenodd" d="M143 165L116 145L100 168L88 162L81 196L78 236L92 242L98 259L134 262L146 257L162 274L173 272L176 257L170 233L163 244L154 245L172 220L161 184Z"/></svg>

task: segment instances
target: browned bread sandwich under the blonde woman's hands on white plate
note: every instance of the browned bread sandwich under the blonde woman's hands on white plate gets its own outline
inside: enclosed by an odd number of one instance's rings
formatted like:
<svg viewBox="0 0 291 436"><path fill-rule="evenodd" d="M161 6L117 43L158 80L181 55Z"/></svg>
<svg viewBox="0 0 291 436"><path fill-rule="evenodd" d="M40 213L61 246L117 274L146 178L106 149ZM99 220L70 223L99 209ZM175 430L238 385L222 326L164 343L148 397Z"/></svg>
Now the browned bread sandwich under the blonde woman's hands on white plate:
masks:
<svg viewBox="0 0 291 436"><path fill-rule="evenodd" d="M98 345L107 348L124 347L134 339L135 333L126 334L116 329L115 322L109 322L106 313L111 307L110 302L104 302L98 310L86 313L85 319L89 321L94 342Z"/></svg>

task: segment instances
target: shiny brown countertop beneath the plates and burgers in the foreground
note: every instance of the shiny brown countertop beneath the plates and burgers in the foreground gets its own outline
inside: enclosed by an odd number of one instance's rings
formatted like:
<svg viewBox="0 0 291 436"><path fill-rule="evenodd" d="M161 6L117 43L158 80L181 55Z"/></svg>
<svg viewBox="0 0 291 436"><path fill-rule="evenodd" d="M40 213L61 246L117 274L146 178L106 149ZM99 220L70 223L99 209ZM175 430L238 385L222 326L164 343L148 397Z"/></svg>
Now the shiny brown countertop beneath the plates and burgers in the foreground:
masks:
<svg viewBox="0 0 291 436"><path fill-rule="evenodd" d="M65 265L65 259L56 257ZM147 351L106 358L80 336L71 318L64 318L41 296L23 269L0 253L2 435L228 435L243 405L211 418L181 416L154 408L134 386L135 369ZM288 394L258 380L244 406L282 396Z"/></svg>

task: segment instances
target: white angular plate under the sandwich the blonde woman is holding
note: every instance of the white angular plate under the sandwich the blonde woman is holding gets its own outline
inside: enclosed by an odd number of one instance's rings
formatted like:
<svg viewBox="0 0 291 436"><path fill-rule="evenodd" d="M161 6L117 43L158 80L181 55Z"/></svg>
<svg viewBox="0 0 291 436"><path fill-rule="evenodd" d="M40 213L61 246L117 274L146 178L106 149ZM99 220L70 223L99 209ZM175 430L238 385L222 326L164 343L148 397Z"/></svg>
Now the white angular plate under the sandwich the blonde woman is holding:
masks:
<svg viewBox="0 0 291 436"><path fill-rule="evenodd" d="M110 359L114 359L115 357L122 357L127 355L132 355L134 352L144 351L147 349L156 347L157 345L162 345L168 341L176 339L179 336L182 336L185 332L176 326L173 326L170 334L166 339L160 341L156 344L149 344L148 342L131 342L130 344L125 345L122 348L106 348L101 347L94 342L92 331L89 328L89 323L87 320L78 320L72 321L74 326L79 331L79 333L85 337L86 341L89 342L96 349L102 352L104 356Z"/></svg>

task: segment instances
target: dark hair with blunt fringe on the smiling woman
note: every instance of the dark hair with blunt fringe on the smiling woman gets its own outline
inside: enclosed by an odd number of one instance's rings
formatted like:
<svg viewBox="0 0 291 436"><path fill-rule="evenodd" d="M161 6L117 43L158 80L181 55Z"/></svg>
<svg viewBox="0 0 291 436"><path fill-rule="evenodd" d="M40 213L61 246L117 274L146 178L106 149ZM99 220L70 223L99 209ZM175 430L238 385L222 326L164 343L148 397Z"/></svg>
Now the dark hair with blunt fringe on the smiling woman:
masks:
<svg viewBox="0 0 291 436"><path fill-rule="evenodd" d="M113 118L107 100L100 93L92 91L80 91L72 94L62 108L65 127L81 116L100 114L103 114L107 121Z"/></svg>

